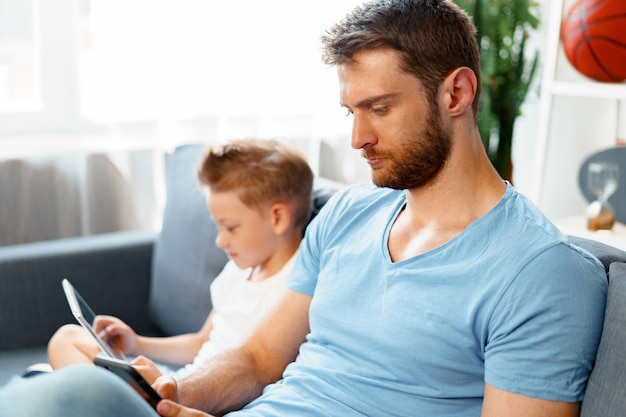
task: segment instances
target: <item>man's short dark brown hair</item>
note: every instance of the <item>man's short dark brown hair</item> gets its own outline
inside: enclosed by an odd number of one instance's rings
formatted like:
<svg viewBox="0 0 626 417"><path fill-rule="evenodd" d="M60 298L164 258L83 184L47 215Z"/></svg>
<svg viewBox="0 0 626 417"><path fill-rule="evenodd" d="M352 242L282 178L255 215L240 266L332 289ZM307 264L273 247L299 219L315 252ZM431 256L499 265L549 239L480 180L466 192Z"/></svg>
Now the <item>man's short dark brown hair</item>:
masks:
<svg viewBox="0 0 626 417"><path fill-rule="evenodd" d="M356 7L322 36L322 60L349 63L357 52L392 48L402 69L422 83L434 100L441 82L468 67L478 83L472 110L477 118L481 92L480 51L472 19L449 0L374 0Z"/></svg>

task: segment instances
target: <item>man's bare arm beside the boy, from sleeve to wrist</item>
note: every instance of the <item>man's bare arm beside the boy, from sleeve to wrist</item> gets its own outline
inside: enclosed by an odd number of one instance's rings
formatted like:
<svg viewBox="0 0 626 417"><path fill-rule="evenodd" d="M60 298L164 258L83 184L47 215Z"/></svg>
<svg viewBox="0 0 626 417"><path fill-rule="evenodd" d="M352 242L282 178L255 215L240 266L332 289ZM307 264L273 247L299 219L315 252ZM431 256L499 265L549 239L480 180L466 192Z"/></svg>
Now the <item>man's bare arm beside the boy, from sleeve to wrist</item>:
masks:
<svg viewBox="0 0 626 417"><path fill-rule="evenodd" d="M311 297L284 290L240 348L217 355L178 382L183 405L220 415L243 407L277 381L309 333Z"/></svg>

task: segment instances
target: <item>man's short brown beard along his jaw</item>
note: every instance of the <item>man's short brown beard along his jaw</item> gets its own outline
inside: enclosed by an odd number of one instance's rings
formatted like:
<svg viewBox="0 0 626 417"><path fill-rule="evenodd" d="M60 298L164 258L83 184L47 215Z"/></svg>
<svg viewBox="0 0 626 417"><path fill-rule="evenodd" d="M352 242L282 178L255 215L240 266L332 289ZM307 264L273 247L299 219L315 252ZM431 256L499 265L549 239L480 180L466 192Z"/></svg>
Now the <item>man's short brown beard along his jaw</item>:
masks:
<svg viewBox="0 0 626 417"><path fill-rule="evenodd" d="M432 105L424 123L424 127L417 132L409 132L396 143L402 148L385 157L385 166L373 168L372 181L379 187L406 190L420 188L433 181L450 155L450 135L445 131L437 112L437 106ZM367 157L375 156L364 151Z"/></svg>

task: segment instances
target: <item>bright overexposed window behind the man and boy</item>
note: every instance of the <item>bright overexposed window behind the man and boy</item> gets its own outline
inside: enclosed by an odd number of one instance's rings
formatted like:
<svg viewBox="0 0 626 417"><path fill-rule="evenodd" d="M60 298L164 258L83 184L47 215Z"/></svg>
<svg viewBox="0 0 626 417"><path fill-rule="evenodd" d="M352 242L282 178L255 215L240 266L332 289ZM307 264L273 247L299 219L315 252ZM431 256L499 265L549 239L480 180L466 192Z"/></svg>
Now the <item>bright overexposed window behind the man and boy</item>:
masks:
<svg viewBox="0 0 626 417"><path fill-rule="evenodd" d="M319 37L359 3L0 0L0 135L140 123L184 141L227 135L233 117L259 135L289 115L318 123L341 113Z"/></svg>

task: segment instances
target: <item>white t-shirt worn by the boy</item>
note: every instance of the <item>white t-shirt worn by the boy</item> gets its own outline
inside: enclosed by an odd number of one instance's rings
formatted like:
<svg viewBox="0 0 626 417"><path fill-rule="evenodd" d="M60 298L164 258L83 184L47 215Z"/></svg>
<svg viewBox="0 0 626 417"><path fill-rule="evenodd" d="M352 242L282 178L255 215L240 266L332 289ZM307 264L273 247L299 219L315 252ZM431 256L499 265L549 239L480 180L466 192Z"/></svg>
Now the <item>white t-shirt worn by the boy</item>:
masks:
<svg viewBox="0 0 626 417"><path fill-rule="evenodd" d="M182 378L197 369L217 353L241 344L251 333L265 312L274 304L285 287L297 252L276 274L262 281L250 281L252 268L240 269L228 261L211 284L213 329L193 362L173 373Z"/></svg>

